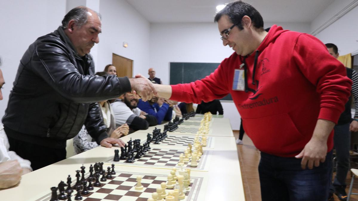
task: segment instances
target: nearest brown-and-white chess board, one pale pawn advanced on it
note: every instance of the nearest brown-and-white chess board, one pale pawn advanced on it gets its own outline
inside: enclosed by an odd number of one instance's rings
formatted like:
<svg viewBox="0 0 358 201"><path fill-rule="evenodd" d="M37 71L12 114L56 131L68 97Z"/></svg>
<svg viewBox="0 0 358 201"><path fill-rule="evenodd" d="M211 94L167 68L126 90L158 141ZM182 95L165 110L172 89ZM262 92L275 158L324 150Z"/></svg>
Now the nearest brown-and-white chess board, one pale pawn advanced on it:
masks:
<svg viewBox="0 0 358 201"><path fill-rule="evenodd" d="M135 190L137 184L136 178L138 175L142 176L143 190ZM89 173L86 174L86 177ZM205 190L203 187L203 177L191 176L191 182L189 190L185 193L184 201L198 200L199 191ZM144 174L136 172L124 172L116 171L112 178L107 178L107 181L101 181L101 186L94 186L89 194L82 195L83 201L147 201L152 197L152 193L156 192L156 188L160 187L161 182L167 181L167 175L158 174ZM72 181L72 185L76 183L76 180ZM173 191L173 189L165 189L166 193ZM50 188L49 188L50 191ZM72 193L71 199L74 200L76 191ZM39 198L36 201L49 201L51 199L51 193Z"/></svg>

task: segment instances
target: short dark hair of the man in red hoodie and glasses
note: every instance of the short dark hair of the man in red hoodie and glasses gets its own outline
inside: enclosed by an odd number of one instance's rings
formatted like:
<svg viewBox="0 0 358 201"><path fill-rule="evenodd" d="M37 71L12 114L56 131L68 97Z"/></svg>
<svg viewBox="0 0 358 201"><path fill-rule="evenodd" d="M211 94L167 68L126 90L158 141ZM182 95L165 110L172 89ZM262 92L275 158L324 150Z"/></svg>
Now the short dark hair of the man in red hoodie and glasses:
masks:
<svg viewBox="0 0 358 201"><path fill-rule="evenodd" d="M256 28L263 28L263 19L260 13L253 8L252 5L243 1L233 1L225 6L221 11L216 13L214 22L218 22L219 19L227 15L233 24L236 24L240 30L243 29L242 17L247 15L250 17L253 26Z"/></svg>

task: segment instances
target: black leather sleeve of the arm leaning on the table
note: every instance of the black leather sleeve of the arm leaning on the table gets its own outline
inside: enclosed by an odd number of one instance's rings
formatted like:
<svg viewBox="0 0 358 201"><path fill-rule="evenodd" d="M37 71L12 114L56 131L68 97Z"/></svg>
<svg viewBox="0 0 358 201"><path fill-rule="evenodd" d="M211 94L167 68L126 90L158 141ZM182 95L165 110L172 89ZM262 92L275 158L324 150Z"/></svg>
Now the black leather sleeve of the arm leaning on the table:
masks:
<svg viewBox="0 0 358 201"><path fill-rule="evenodd" d="M96 140L97 144L100 144L102 139L108 137L107 128L103 123L100 107L98 103L90 103L84 126L88 131L88 134Z"/></svg>

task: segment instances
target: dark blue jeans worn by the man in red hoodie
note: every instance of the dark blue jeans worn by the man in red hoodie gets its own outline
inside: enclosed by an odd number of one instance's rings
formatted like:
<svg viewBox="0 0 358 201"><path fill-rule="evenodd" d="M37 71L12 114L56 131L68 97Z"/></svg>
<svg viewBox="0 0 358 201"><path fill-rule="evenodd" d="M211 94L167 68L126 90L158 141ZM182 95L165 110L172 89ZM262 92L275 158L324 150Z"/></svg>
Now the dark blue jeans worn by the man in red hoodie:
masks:
<svg viewBox="0 0 358 201"><path fill-rule="evenodd" d="M332 151L312 170L303 170L301 159L261 152L258 173L262 201L326 201L331 171Z"/></svg>

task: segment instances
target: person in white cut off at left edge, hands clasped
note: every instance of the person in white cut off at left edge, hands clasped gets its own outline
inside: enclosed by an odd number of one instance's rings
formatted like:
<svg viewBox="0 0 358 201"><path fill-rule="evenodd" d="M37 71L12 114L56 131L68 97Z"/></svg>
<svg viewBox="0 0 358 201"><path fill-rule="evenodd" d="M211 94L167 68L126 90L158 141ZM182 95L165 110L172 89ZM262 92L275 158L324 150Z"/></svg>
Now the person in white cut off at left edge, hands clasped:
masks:
<svg viewBox="0 0 358 201"><path fill-rule="evenodd" d="M0 58L0 65L2 60ZM0 100L3 99L1 88L5 84L3 72L0 69ZM31 163L18 156L14 151L9 151L10 144L0 124L0 189L15 186L21 180L21 175L32 171Z"/></svg>

